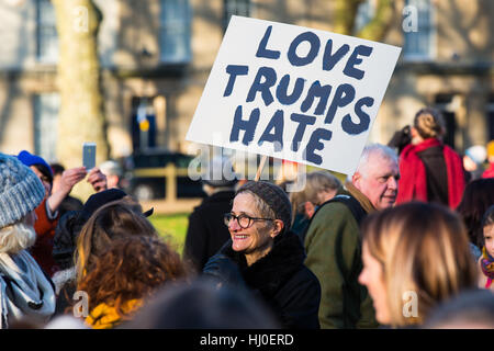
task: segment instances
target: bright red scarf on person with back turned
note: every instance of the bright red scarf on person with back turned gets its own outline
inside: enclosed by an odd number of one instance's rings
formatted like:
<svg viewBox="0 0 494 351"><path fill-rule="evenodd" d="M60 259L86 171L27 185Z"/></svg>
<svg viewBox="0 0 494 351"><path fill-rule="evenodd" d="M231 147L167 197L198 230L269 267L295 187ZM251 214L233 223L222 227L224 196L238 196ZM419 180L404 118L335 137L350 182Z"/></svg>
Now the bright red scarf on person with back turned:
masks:
<svg viewBox="0 0 494 351"><path fill-rule="evenodd" d="M446 173L448 177L448 202L450 208L457 208L464 190L463 165L458 154L436 138L425 139L417 145L407 145L400 157L400 183L396 204L412 200L428 202L427 173L418 152L430 147L442 146Z"/></svg>

